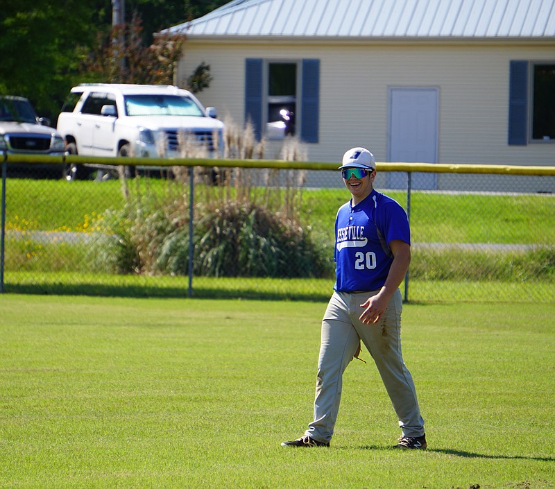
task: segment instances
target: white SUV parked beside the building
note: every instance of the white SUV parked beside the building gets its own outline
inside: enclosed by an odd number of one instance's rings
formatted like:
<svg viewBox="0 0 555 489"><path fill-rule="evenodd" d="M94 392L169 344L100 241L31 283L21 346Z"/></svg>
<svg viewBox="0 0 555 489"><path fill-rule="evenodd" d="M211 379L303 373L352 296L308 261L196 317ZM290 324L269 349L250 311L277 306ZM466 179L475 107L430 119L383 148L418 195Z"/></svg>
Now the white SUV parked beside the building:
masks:
<svg viewBox="0 0 555 489"><path fill-rule="evenodd" d="M83 84L73 87L58 117L69 154L198 157L184 141L213 155L223 147L223 122L187 90L171 85ZM90 168L74 167L75 178ZM78 173L81 173L80 175Z"/></svg>

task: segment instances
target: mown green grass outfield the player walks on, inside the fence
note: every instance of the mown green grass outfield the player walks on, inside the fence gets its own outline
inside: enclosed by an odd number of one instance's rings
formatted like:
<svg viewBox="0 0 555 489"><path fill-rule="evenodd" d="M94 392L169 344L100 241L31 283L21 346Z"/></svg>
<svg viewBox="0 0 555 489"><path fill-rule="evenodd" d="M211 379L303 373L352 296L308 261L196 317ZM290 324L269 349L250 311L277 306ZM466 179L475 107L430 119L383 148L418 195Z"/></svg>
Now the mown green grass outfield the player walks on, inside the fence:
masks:
<svg viewBox="0 0 555 489"><path fill-rule="evenodd" d="M325 302L0 296L0 487L555 487L555 304L408 304L429 449L368 352L329 449L311 419Z"/></svg>

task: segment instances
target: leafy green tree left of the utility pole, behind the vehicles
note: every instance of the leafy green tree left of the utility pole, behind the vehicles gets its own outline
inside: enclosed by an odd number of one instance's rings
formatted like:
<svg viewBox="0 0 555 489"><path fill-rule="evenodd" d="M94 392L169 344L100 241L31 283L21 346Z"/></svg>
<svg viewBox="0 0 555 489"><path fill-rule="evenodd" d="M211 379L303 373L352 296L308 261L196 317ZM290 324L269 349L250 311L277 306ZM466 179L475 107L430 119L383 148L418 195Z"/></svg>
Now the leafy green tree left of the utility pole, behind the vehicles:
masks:
<svg viewBox="0 0 555 489"><path fill-rule="evenodd" d="M94 40L108 15L104 3L3 0L0 92L28 97L43 115L57 114L78 67L76 46Z"/></svg>

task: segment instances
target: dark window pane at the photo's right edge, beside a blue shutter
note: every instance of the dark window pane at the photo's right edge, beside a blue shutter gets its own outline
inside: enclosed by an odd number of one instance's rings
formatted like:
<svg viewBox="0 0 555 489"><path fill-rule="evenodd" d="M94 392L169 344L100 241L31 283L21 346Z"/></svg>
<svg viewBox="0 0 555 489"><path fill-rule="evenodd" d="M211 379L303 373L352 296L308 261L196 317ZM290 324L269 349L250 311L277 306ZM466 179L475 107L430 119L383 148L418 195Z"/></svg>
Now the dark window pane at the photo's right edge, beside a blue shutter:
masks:
<svg viewBox="0 0 555 489"><path fill-rule="evenodd" d="M555 139L555 65L533 67L532 139Z"/></svg>

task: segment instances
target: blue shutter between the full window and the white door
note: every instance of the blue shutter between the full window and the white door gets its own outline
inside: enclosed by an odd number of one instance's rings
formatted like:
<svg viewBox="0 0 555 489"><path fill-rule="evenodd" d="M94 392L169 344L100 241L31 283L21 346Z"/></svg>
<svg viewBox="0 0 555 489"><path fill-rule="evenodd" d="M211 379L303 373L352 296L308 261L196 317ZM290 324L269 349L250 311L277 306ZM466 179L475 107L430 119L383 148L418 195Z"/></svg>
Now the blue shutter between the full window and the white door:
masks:
<svg viewBox="0 0 555 489"><path fill-rule="evenodd" d="M317 143L320 132L320 60L302 60L300 139Z"/></svg>

